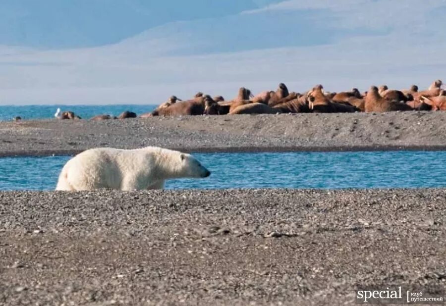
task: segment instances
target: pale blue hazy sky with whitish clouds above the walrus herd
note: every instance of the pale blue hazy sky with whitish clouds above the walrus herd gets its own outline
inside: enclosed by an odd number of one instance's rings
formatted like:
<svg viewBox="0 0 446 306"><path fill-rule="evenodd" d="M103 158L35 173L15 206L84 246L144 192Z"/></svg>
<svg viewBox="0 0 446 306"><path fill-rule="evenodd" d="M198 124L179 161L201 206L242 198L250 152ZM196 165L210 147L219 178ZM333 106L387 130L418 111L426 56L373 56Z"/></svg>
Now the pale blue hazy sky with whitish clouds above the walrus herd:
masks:
<svg viewBox="0 0 446 306"><path fill-rule="evenodd" d="M0 105L446 79L446 0L2 0Z"/></svg>

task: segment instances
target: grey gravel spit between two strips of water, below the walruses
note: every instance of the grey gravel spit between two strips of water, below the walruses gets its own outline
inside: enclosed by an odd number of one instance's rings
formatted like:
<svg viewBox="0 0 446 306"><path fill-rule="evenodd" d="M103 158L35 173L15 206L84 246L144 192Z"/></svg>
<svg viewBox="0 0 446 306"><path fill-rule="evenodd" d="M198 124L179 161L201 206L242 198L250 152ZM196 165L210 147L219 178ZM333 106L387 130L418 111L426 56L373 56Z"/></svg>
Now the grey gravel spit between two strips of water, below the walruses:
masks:
<svg viewBox="0 0 446 306"><path fill-rule="evenodd" d="M195 152L444 150L445 112L153 117L0 122L0 156L92 147Z"/></svg>

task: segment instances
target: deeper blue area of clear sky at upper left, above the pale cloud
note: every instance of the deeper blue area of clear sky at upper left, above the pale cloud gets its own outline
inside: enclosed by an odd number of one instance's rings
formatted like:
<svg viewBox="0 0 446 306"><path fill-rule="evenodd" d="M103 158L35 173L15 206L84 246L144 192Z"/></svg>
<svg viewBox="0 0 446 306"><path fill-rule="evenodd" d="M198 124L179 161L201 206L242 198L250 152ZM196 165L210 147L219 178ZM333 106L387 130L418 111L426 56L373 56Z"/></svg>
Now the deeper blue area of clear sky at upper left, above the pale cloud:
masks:
<svg viewBox="0 0 446 306"><path fill-rule="evenodd" d="M0 44L39 48L101 46L169 22L237 14L275 2L279 1L2 0Z"/></svg>

